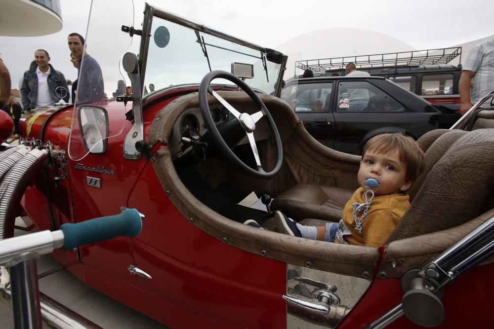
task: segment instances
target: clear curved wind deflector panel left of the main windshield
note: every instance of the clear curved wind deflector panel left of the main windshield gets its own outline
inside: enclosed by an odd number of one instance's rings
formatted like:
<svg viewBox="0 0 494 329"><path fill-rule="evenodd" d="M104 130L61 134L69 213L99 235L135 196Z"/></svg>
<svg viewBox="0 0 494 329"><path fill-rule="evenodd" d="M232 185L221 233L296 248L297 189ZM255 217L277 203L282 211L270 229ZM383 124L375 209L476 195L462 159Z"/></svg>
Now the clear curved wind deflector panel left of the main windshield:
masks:
<svg viewBox="0 0 494 329"><path fill-rule="evenodd" d="M115 10L118 15L112 14ZM86 34L68 37L71 58L78 69L68 147L73 160L89 152L103 152L107 140L122 133L132 102L110 102L131 92L126 88L130 81L122 57L132 38L122 32L122 25L133 26L133 21L132 1L93 1Z"/></svg>

